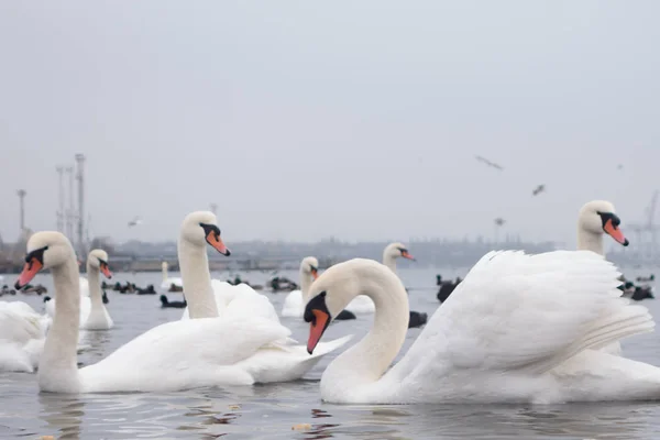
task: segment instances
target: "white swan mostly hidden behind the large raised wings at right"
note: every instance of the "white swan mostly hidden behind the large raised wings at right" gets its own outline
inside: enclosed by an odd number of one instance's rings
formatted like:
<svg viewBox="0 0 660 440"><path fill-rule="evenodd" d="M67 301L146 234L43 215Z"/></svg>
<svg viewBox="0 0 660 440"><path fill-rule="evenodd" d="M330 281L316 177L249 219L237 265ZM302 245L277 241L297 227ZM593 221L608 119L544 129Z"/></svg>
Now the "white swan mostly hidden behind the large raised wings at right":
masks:
<svg viewBox="0 0 660 440"><path fill-rule="evenodd" d="M617 243L627 246L628 239L619 229L622 220L616 215L614 205L606 200L592 200L585 204L578 215L578 250L592 251L605 256L603 234L610 235ZM616 341L603 346L601 351L620 355L622 344Z"/></svg>

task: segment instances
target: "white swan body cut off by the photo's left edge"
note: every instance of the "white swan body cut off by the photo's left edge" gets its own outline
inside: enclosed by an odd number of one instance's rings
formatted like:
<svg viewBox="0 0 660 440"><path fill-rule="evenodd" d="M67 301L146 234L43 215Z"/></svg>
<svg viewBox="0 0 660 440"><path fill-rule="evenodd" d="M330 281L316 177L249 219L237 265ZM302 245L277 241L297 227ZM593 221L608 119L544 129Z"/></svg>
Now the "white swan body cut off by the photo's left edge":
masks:
<svg viewBox="0 0 660 440"><path fill-rule="evenodd" d="M50 321L23 301L0 301L0 372L34 372Z"/></svg>

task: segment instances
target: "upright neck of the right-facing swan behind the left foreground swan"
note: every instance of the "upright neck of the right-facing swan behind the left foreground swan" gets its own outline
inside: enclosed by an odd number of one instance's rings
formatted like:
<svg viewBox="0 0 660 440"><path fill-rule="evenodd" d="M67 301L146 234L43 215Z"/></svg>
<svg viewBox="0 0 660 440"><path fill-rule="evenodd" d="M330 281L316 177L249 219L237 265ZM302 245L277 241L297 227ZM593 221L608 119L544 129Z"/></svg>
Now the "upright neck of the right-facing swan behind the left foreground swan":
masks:
<svg viewBox="0 0 660 440"><path fill-rule="evenodd" d="M190 319L217 318L218 306L211 286L206 248L179 238L178 260Z"/></svg>

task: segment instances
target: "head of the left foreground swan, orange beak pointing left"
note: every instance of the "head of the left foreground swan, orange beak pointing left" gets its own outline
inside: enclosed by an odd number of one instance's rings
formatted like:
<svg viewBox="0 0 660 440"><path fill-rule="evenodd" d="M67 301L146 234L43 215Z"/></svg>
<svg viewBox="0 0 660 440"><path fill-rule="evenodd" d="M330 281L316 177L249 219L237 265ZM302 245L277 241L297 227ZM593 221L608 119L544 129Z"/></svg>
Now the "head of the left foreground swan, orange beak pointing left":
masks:
<svg viewBox="0 0 660 440"><path fill-rule="evenodd" d="M14 287L21 289L41 270L57 267L68 261L76 261L76 252L63 233L54 231L36 232L28 240L25 265Z"/></svg>

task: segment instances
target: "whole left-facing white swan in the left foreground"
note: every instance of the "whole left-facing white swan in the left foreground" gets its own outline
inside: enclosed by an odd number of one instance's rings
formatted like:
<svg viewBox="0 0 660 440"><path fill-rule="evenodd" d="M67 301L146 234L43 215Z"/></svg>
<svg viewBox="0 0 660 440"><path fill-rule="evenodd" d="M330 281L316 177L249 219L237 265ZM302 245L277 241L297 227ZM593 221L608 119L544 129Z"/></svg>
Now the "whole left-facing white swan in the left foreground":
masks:
<svg viewBox="0 0 660 440"><path fill-rule="evenodd" d="M204 242L202 228L199 235ZM211 242L219 241L219 235L217 227L207 234ZM38 385L44 392L170 392L282 382L300 377L320 358L309 356L304 348L282 346L276 341L290 332L267 319L200 318L157 326L105 360L78 370L80 293L74 249L59 232L37 232L28 242L26 261L16 286L28 284L41 268L50 268L57 296L38 364ZM336 345L345 340L340 342Z"/></svg>

